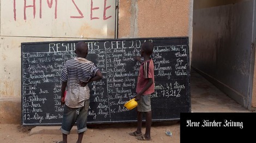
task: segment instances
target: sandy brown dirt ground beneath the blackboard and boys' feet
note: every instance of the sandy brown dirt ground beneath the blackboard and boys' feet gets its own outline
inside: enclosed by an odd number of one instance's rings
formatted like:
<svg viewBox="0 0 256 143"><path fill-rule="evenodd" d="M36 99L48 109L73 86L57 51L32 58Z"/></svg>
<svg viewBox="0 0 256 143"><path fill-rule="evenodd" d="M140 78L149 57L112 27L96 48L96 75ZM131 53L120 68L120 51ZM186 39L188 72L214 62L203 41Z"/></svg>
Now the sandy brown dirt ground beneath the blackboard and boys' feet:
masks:
<svg viewBox="0 0 256 143"><path fill-rule="evenodd" d="M3 143L19 143L19 142L47 142L55 143L62 140L62 133L59 129L47 129L43 127L44 131L33 132L33 126L21 126L13 124L0 124L0 142ZM75 127L76 129L76 127ZM77 140L77 133L74 128L71 134L68 135L68 141L75 143ZM165 134L166 129L172 132L172 136ZM180 123L179 121L168 122L153 122L151 126L150 141L139 141L135 137L129 135L129 132L136 130L136 123L118 123L105 125L88 125L88 130L84 133L83 142L180 142ZM142 131L145 132L145 125L143 123Z"/></svg>

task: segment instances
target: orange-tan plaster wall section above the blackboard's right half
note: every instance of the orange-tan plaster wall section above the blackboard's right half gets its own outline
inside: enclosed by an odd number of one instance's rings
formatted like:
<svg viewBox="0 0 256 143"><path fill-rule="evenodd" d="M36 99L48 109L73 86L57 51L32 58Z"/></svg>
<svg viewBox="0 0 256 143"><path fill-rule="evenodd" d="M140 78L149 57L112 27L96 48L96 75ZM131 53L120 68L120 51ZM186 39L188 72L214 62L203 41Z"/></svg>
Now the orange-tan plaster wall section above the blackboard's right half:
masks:
<svg viewBox="0 0 256 143"><path fill-rule="evenodd" d="M192 1L119 1L118 37L191 36Z"/></svg>

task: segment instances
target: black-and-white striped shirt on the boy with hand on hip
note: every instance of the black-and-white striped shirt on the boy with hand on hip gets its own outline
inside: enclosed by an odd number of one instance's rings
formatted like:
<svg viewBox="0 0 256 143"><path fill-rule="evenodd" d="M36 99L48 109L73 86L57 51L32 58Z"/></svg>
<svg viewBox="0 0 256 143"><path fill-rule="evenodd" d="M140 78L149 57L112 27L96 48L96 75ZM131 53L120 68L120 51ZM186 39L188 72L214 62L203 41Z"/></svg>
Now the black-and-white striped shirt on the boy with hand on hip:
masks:
<svg viewBox="0 0 256 143"><path fill-rule="evenodd" d="M95 76L99 68L94 63L81 57L75 57L65 62L60 80L67 82L65 104L70 108L84 106L84 101L90 98L88 85L81 87L79 82L86 82Z"/></svg>

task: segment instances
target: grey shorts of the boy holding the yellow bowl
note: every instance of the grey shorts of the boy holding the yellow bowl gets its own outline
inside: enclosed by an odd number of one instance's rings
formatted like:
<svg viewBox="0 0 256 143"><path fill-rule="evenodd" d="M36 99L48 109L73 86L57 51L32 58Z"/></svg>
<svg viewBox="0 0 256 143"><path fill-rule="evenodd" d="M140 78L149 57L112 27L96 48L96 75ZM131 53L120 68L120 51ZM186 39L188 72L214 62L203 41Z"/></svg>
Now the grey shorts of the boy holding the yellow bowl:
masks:
<svg viewBox="0 0 256 143"><path fill-rule="evenodd" d="M151 95L141 95L141 100L137 101L137 111L138 112L149 112L151 111Z"/></svg>

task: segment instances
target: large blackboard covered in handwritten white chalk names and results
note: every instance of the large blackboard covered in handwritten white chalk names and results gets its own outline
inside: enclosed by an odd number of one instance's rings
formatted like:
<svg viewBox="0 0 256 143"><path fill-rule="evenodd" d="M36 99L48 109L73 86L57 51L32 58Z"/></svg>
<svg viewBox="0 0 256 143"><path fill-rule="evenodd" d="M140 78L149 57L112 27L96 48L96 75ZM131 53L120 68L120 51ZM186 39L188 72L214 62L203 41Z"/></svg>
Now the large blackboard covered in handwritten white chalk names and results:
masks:
<svg viewBox="0 0 256 143"><path fill-rule="evenodd" d="M86 40L87 59L103 78L89 84L88 124L137 121L136 109L124 104L136 95L142 43L154 43L155 93L151 95L153 121L179 120L191 112L188 37ZM22 125L61 125L60 73L65 61L75 57L79 41L21 43Z"/></svg>

